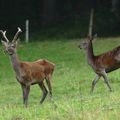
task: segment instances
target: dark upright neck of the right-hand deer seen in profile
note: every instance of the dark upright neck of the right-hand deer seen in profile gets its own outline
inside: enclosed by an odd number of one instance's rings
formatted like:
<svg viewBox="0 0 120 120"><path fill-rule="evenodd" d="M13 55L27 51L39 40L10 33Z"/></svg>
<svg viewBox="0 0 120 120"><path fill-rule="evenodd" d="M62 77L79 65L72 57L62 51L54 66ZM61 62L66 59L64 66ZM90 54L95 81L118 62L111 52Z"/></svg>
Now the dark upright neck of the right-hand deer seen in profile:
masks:
<svg viewBox="0 0 120 120"><path fill-rule="evenodd" d="M94 64L94 53L93 53L93 46L91 41L87 49L87 60L88 60L88 64L90 65Z"/></svg>

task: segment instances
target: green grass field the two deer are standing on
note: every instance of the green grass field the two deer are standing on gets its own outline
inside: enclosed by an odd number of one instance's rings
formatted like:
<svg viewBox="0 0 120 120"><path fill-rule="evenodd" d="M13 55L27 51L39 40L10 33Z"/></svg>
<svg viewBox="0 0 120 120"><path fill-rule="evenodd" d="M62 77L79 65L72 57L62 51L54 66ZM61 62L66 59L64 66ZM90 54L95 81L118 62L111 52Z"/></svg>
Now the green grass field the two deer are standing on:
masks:
<svg viewBox="0 0 120 120"><path fill-rule="evenodd" d="M113 92L103 79L90 94L95 73L87 65L82 40L44 40L20 43L19 58L23 61L48 59L56 64L52 77L53 98L47 96L40 105L41 90L31 87L29 107L22 104L21 86L15 79L8 55L0 51L0 120L120 120L120 71L109 73ZM95 54L120 45L120 38L98 38ZM0 45L0 49L2 46Z"/></svg>

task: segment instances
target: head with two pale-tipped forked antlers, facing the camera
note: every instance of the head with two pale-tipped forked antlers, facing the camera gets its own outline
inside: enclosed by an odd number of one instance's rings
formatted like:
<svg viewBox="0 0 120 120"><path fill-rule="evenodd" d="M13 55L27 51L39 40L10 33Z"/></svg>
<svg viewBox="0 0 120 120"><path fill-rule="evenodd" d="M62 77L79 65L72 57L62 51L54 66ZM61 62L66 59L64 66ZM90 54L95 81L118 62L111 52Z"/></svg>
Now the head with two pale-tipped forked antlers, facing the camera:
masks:
<svg viewBox="0 0 120 120"><path fill-rule="evenodd" d="M6 31L2 31L0 30L3 38L4 38L4 41L1 40L3 46L4 46L4 51L9 54L9 55L13 55L14 53L16 53L16 46L17 46L17 41L18 41L18 35L19 33L21 33L21 29L18 27L18 31L16 32L12 42L10 42L8 40L8 38L6 37Z"/></svg>

